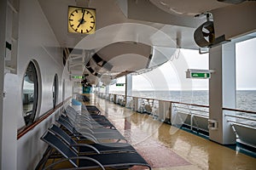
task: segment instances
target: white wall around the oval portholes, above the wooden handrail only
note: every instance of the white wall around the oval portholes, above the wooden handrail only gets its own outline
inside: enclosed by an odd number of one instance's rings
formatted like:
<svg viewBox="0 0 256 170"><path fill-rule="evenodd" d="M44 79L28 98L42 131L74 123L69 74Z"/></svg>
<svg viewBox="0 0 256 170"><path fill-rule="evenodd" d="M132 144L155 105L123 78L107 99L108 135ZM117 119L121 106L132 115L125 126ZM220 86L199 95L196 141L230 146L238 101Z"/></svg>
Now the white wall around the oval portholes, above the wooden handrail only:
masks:
<svg viewBox="0 0 256 170"><path fill-rule="evenodd" d="M52 86L55 74L58 75L59 93L57 104L61 102L61 78L62 78L62 59L61 48L53 31L50 29L42 9L37 1L24 0L20 2L20 29L18 43L18 68L17 73L20 88L19 93L19 113L17 113L18 128L23 127L25 122L22 117L22 81L26 67L29 62L34 59L38 63L38 74L40 74L39 85L41 85L41 96L39 96L38 115L41 116L45 112L52 109Z"/></svg>

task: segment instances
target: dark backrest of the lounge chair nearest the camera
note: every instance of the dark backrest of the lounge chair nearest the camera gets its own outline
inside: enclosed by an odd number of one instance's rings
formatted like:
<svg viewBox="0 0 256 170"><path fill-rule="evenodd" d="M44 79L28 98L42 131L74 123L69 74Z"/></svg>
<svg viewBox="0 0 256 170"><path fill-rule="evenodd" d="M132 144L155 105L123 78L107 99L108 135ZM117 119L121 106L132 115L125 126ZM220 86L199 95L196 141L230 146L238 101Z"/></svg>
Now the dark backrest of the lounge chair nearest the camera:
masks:
<svg viewBox="0 0 256 170"><path fill-rule="evenodd" d="M65 144L60 138L56 137L53 133L46 131L41 139L53 147L55 150L58 150L62 156L66 158L77 157L78 155L70 149L67 144ZM76 159L69 159L74 167L78 167Z"/></svg>

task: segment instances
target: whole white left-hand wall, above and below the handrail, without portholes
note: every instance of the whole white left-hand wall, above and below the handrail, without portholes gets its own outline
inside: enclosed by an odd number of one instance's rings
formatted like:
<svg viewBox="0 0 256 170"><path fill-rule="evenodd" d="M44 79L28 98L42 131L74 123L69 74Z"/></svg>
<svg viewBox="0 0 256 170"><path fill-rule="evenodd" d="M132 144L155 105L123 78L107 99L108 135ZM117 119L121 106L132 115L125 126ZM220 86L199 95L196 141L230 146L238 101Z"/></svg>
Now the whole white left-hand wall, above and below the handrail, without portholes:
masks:
<svg viewBox="0 0 256 170"><path fill-rule="evenodd" d="M4 105L3 112L3 115L6 115L8 120L6 123L9 124L4 128L6 129L4 134L9 139L9 144L13 145L13 150L9 152L10 159L4 162L4 167L6 169L14 169L13 167L17 167L17 169L34 169L46 148L46 144L40 140L40 137L43 135L45 129L49 127L49 124L55 120L55 114L44 120L44 122L41 122L20 139L16 139L17 130L25 127L22 116L22 83L26 67L32 59L38 63L38 74L40 74L38 78L41 91L38 96L38 114L36 118L53 109L52 86L55 74L58 75L59 83L56 105L62 101L62 79L65 79L66 82L64 99L71 96L71 82L68 76L62 77L64 68L61 58L62 51L38 1L20 1L19 13L17 75L10 76L15 77L15 81L9 79L9 76L4 77L5 80L9 80L4 81L4 87L15 89L15 94L8 95L8 100L6 100L8 105ZM59 112L55 111L55 113ZM6 144L6 148L9 148L7 142L3 142L3 144ZM5 146L3 145L3 148ZM16 164L15 160L17 160Z"/></svg>

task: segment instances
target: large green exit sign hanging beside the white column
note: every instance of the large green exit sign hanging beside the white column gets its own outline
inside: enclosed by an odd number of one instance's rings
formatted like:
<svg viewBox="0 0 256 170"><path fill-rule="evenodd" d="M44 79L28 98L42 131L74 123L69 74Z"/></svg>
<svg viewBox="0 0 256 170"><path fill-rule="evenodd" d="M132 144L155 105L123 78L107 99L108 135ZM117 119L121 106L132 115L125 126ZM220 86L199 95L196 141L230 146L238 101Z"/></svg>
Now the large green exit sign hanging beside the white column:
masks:
<svg viewBox="0 0 256 170"><path fill-rule="evenodd" d="M208 71L208 70L188 69L188 71L186 71L186 77L208 79L208 78L211 78L211 72L212 71Z"/></svg>

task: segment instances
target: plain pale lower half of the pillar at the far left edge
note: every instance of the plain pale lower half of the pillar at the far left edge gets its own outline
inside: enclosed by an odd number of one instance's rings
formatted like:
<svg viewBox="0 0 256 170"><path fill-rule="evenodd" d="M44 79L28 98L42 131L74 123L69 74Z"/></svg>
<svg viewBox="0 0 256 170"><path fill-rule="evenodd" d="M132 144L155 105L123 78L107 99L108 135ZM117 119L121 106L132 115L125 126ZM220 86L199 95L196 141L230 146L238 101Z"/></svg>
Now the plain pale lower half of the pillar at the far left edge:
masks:
<svg viewBox="0 0 256 170"><path fill-rule="evenodd" d="M2 158L2 166L1 169L16 169L17 166L16 156L17 156L17 127L16 127L16 111L17 111L17 103L18 98L16 98L16 94L18 94L18 88L16 87L18 77L14 74L5 74L4 76L4 93L5 97L3 98L3 138L2 145L3 150L1 152ZM9 161L12 160L12 161Z"/></svg>

